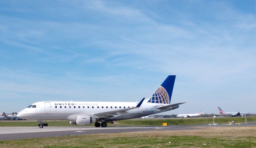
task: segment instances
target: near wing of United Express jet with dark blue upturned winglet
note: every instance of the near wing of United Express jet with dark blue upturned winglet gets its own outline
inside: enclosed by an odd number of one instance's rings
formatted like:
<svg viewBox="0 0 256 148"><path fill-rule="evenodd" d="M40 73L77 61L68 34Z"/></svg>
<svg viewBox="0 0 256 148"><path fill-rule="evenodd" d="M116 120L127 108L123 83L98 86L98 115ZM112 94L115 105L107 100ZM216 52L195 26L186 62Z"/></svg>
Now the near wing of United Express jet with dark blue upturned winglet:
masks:
<svg viewBox="0 0 256 148"><path fill-rule="evenodd" d="M124 109L121 109L121 110L112 110L112 111L109 111L109 112L99 112L99 113L95 113L95 114L92 114L92 115L97 116L98 118L106 118L106 117L114 117L115 115L125 114L126 111L128 111L128 110L139 108L141 106L142 102L144 101L144 99L145 98L143 98L140 101L140 103L136 107L133 107L133 108L124 108Z"/></svg>

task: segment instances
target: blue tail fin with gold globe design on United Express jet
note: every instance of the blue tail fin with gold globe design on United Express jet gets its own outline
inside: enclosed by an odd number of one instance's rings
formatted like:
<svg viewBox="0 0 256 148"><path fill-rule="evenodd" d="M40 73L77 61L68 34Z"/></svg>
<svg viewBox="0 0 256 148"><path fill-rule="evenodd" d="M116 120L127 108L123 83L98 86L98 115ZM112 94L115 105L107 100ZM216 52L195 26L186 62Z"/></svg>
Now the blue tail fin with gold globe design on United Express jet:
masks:
<svg viewBox="0 0 256 148"><path fill-rule="evenodd" d="M170 104L175 77L176 76L168 76L150 97L148 103Z"/></svg>

